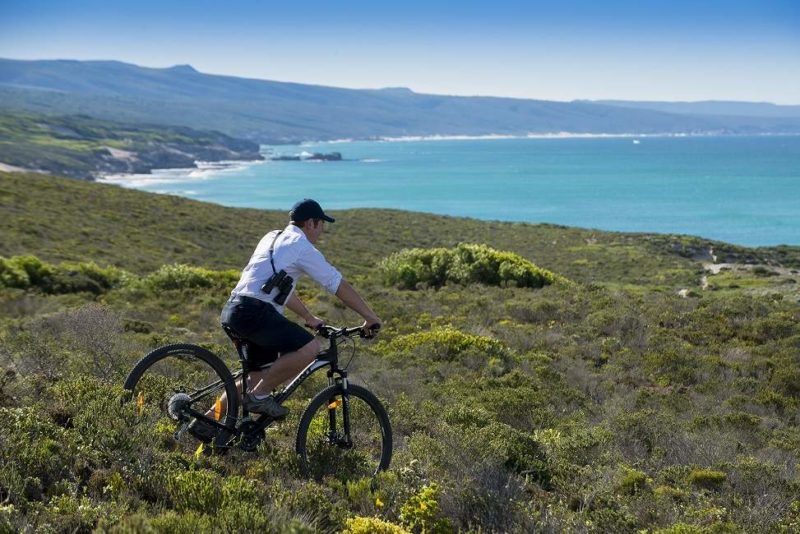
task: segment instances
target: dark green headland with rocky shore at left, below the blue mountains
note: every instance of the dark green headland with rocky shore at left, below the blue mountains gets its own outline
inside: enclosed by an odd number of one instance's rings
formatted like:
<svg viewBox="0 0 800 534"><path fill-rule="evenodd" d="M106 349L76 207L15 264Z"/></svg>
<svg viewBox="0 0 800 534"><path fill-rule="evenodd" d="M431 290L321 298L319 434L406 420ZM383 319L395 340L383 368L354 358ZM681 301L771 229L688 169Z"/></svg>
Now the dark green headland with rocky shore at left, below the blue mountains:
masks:
<svg viewBox="0 0 800 534"><path fill-rule="evenodd" d="M256 143L219 132L0 111L0 163L23 169L92 179L193 168L197 161L258 159Z"/></svg>

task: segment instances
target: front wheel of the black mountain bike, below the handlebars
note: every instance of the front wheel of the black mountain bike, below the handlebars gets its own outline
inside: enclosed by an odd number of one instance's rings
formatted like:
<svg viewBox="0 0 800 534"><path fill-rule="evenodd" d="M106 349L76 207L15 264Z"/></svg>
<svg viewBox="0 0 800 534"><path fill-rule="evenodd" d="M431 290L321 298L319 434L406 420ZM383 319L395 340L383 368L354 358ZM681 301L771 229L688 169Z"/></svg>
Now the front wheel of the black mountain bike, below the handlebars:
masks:
<svg viewBox="0 0 800 534"><path fill-rule="evenodd" d="M303 412L296 450L303 473L315 479L375 476L392 459L389 416L363 387L329 386Z"/></svg>

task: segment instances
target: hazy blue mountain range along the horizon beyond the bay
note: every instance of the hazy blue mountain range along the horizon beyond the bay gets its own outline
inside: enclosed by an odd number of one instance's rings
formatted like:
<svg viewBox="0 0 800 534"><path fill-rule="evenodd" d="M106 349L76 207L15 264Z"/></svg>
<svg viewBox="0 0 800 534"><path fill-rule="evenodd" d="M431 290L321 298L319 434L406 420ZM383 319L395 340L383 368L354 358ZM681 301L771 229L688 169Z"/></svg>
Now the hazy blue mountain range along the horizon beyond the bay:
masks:
<svg viewBox="0 0 800 534"><path fill-rule="evenodd" d="M188 65L0 59L0 108L213 129L262 143L427 135L800 133L800 107L552 102L342 89L203 74Z"/></svg>

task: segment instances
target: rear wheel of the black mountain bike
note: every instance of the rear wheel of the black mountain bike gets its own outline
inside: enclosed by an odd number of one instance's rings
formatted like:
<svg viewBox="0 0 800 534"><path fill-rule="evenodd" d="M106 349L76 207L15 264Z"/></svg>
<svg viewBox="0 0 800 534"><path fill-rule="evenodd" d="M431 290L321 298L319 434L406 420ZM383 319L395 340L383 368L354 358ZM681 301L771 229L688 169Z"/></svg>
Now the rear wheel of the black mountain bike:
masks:
<svg viewBox="0 0 800 534"><path fill-rule="evenodd" d="M169 413L170 399L179 392L189 397L197 395L185 405L200 413L205 413L224 392L227 410L219 414L218 421L231 428L236 425L239 410L236 382L220 358L197 345L179 343L153 350L133 367L125 379L124 388L126 399L136 402L140 417L162 430L174 429L173 435L187 449L198 444L197 439L186 431L190 418L176 418ZM208 391L198 394L204 389ZM182 432L178 433L178 430ZM221 449L232 435L231 432L219 431L212 442L213 447Z"/></svg>

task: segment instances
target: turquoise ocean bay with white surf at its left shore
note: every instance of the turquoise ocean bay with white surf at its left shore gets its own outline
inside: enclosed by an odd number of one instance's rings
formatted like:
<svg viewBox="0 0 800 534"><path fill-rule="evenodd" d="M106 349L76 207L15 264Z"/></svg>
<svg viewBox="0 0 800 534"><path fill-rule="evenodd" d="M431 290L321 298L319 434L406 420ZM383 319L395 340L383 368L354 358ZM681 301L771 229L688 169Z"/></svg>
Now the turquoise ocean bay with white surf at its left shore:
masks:
<svg viewBox="0 0 800 534"><path fill-rule="evenodd" d="M800 245L800 136L342 141L264 147L344 161L109 177L226 206L397 208L486 220Z"/></svg>

